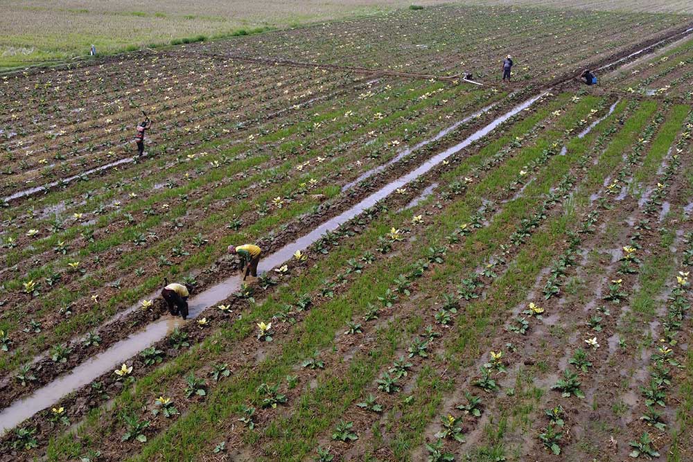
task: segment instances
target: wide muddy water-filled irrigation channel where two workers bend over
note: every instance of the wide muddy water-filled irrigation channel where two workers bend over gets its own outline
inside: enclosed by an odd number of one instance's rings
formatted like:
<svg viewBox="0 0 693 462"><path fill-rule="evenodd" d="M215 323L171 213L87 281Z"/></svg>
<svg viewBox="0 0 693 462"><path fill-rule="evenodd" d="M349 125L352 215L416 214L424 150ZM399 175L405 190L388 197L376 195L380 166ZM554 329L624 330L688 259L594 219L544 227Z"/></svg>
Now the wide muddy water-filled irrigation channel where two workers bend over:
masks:
<svg viewBox="0 0 693 462"><path fill-rule="evenodd" d="M468 136L464 141L457 143L434 157L428 159L418 168L412 170L390 182L389 184L383 186L376 192L372 193L365 199L362 199L358 204L349 208L349 210L344 211L340 215L337 215L331 220L327 220L323 224L317 226L317 228L310 231L310 233L305 236L301 236L294 242L290 242L278 251L274 252L269 256L266 256L261 260L260 265L258 265L259 272L267 272L277 265L281 265L284 262L290 260L297 250L304 250L309 247L313 242L316 242L321 238L324 233L328 231L334 231L342 224L348 222L352 218L360 215L367 208L374 206L380 199L387 197L388 195L394 193L398 188L402 188L406 184L414 181L415 179L425 175L427 172L438 166L442 161L448 159L448 157L456 154L457 152L468 147L475 141L478 141L489 133L493 132L498 126L507 121L509 118L519 114L523 110L532 106L537 100L545 96L549 91L544 91L538 96L534 96L520 105L514 107L509 112L502 114L498 118L495 118L491 123L480 128L470 136ZM446 129L449 131L449 129ZM241 287L241 278L239 275L231 276L225 281L213 285L204 292L193 296L189 301L189 313L188 319L195 319L200 313L210 306L216 305L225 299L227 299L234 292L238 292ZM47 384L46 386L36 390L30 396L17 400L12 405L4 409L0 413L0 436L8 432L10 429L16 427L19 423L23 422L27 418L33 416L38 411L50 407L58 400L62 399L67 394L80 389L89 383L91 383L96 377L99 377L107 371L111 371L115 366L119 366L121 363L125 362L130 357L137 355L144 348L152 346L157 341L164 339L166 335L173 331L177 326L182 325L189 321L183 321L178 317L161 317L157 321L149 323L145 328L132 333L132 335L126 337L125 339L118 341L113 344L110 348L87 359L85 362L73 368L73 370L67 375L63 375L53 380L53 382Z"/></svg>

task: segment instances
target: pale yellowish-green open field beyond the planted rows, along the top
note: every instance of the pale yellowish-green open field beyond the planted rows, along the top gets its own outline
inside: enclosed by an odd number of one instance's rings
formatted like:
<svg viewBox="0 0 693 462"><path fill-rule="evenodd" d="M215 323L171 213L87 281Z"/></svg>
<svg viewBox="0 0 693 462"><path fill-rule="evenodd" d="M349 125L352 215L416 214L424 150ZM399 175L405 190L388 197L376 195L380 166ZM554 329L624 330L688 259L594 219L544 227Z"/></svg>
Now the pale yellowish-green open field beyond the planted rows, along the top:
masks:
<svg viewBox="0 0 693 462"><path fill-rule="evenodd" d="M320 21L373 15L412 3L526 5L626 12L693 13L687 0L347 0L347 1L96 1L10 0L0 17L0 69L263 28L287 28ZM300 3L297 6L297 3Z"/></svg>

